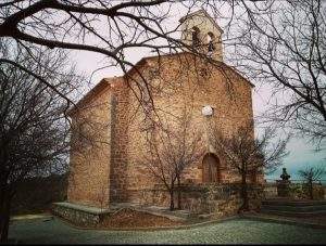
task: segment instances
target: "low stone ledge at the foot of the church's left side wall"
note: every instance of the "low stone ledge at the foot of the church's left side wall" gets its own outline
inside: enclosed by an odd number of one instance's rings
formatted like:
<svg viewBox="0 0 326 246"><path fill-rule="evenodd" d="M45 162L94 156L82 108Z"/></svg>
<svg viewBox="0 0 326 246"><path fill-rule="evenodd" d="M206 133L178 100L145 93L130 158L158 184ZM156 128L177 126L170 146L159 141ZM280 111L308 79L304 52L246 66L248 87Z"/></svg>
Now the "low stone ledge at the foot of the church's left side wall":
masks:
<svg viewBox="0 0 326 246"><path fill-rule="evenodd" d="M52 213L80 226L98 226L103 217L111 212L71 203L54 203Z"/></svg>

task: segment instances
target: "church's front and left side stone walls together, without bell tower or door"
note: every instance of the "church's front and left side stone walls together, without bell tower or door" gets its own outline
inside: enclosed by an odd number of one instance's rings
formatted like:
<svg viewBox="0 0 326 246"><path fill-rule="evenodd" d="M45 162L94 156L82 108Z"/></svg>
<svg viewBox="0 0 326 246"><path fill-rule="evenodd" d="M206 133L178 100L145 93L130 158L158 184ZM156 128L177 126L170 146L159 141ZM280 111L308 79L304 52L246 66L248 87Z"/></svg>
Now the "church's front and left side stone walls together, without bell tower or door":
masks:
<svg viewBox="0 0 326 246"><path fill-rule="evenodd" d="M214 152L206 144L210 126L230 134L252 119L252 85L224 63L212 65L191 53L180 53L145 59L137 68L151 85L155 114L162 121L172 122L186 106L193 116L191 128L204 135L202 145L208 153ZM74 124L90 120L88 129L98 135L95 139L100 144L73 148L76 151L71 153L70 202L109 206L114 202L140 200L141 196L133 194L152 190L158 182L142 161L147 134L143 108L148 106L143 100L148 95L139 91L143 81L138 72L108 80L72 116ZM204 105L214 107L210 119L201 114ZM72 143L78 143L74 133ZM221 183L239 182L238 172L223 158L220 160ZM201 184L201 167L202 159L187 168L183 180Z"/></svg>

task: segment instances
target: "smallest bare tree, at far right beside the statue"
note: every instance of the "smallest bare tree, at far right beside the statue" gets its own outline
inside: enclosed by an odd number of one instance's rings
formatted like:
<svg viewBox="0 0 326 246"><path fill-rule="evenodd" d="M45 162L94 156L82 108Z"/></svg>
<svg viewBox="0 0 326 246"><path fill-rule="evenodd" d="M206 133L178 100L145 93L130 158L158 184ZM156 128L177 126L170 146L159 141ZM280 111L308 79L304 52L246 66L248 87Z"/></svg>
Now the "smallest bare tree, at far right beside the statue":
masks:
<svg viewBox="0 0 326 246"><path fill-rule="evenodd" d="M322 179L326 173L324 167L306 167L304 170L298 171L299 176L303 178L308 185L309 196L311 199L314 198L313 194L313 182L316 182Z"/></svg>

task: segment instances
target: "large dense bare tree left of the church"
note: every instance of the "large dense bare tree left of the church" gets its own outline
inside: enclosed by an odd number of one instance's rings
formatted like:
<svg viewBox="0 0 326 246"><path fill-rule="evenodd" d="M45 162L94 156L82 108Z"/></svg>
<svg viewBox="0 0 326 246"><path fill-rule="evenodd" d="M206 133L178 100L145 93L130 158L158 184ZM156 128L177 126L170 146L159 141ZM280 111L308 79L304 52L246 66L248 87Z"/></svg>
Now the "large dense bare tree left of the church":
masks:
<svg viewBox="0 0 326 246"><path fill-rule="evenodd" d="M34 53L39 61L36 64L10 42L1 42L1 48L3 59L47 81L0 63L0 241L5 242L11 200L20 182L66 170L70 125L64 117L68 105L64 98L75 91L76 79L65 53L39 50Z"/></svg>

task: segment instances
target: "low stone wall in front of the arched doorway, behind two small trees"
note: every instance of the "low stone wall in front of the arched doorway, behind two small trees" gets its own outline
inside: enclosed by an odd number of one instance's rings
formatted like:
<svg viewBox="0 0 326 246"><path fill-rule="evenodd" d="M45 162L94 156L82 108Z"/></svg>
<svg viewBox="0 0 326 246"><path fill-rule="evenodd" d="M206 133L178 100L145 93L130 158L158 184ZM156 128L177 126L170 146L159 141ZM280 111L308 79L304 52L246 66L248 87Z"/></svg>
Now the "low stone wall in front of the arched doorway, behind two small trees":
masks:
<svg viewBox="0 0 326 246"><path fill-rule="evenodd" d="M185 184L181 186L181 209L192 213L214 213L216 217L235 215L242 204L240 189L240 184ZM262 185L249 184L251 209L260 209L262 196ZM153 190L128 191L128 197L131 203L170 206L170 195L162 185Z"/></svg>

